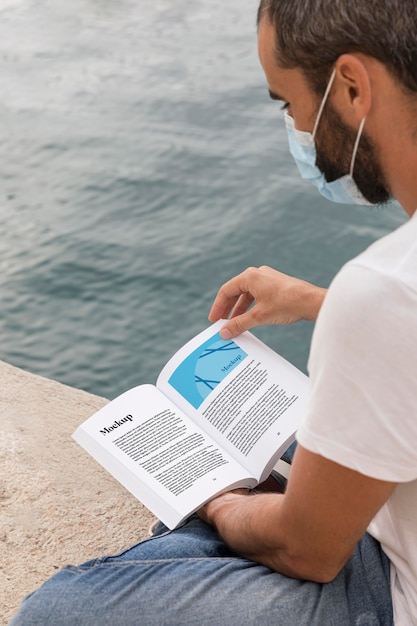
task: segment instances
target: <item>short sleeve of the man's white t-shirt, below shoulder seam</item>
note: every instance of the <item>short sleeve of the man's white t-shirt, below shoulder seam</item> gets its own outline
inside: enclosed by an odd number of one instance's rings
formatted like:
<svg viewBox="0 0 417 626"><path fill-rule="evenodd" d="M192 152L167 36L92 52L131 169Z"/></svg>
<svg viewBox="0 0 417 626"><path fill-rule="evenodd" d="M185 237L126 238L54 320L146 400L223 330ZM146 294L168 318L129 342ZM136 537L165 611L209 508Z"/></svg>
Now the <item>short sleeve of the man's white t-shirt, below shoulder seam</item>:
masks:
<svg viewBox="0 0 417 626"><path fill-rule="evenodd" d="M313 334L303 447L380 480L417 477L416 311L398 278L339 272Z"/></svg>

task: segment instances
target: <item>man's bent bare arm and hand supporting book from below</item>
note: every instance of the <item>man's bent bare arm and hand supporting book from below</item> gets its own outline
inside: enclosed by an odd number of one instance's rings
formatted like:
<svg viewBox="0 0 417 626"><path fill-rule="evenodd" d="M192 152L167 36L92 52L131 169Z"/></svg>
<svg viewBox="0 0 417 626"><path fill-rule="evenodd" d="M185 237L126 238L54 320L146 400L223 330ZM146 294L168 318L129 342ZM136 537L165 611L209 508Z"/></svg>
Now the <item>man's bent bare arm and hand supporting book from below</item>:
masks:
<svg viewBox="0 0 417 626"><path fill-rule="evenodd" d="M226 493L199 515L246 558L328 582L394 488L298 446L285 495Z"/></svg>

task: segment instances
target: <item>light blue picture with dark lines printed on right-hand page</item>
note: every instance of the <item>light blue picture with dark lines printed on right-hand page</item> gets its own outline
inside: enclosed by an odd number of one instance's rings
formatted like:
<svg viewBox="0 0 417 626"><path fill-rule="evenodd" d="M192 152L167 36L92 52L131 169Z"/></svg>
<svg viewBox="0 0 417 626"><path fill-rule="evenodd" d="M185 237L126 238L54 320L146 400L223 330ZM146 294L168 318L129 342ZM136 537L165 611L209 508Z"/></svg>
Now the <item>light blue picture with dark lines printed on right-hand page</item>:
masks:
<svg viewBox="0 0 417 626"><path fill-rule="evenodd" d="M195 409L248 355L234 341L226 341L217 333L192 352L169 379Z"/></svg>

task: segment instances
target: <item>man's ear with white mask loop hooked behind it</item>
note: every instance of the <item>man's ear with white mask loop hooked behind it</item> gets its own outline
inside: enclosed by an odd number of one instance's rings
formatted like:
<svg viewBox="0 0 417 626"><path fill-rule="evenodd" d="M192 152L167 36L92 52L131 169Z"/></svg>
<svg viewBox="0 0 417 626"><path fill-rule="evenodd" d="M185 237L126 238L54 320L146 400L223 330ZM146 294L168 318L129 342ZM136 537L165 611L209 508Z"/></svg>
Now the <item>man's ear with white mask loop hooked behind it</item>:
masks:
<svg viewBox="0 0 417 626"><path fill-rule="evenodd" d="M368 68L356 54L342 54L335 64L334 101L351 121L362 121L372 105ZM347 120L346 120L347 121Z"/></svg>

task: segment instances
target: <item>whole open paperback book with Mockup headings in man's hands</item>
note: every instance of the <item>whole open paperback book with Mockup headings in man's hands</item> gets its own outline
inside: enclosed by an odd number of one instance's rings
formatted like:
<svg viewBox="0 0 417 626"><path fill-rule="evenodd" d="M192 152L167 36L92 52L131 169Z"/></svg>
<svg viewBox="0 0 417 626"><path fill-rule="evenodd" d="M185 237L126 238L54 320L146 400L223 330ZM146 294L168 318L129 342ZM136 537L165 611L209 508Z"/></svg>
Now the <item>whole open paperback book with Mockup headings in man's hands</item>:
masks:
<svg viewBox="0 0 417 626"><path fill-rule="evenodd" d="M73 434L168 528L263 482L305 410L307 376L249 332L223 340L223 323L183 346L156 386L126 391Z"/></svg>

